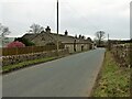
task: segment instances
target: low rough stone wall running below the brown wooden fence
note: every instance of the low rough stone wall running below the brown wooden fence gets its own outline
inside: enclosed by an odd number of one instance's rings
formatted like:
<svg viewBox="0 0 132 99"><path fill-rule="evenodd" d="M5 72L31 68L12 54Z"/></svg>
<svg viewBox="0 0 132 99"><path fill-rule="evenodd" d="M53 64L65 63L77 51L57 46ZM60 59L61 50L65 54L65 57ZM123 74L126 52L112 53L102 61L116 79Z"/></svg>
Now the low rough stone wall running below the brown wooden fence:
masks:
<svg viewBox="0 0 132 99"><path fill-rule="evenodd" d="M66 55L66 54L68 54L68 50L59 50L59 52L58 52L58 55L61 55L61 56ZM55 57L55 56L57 56L56 51L3 56L2 57L2 66L14 65L14 64L22 63L25 61L33 61L33 59L45 58L45 57Z"/></svg>

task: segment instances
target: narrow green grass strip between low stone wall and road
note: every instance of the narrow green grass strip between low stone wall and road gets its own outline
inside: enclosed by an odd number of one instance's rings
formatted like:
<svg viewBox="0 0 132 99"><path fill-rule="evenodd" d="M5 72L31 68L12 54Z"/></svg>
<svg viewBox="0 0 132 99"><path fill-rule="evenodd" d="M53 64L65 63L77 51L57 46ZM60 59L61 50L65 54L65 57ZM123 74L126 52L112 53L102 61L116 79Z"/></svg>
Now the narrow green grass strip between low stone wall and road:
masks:
<svg viewBox="0 0 132 99"><path fill-rule="evenodd" d="M15 65L3 66L2 67L2 73L3 74L4 73L10 73L10 72L15 70L15 69L20 69L20 68L23 68L23 67L28 67L28 66L31 66L31 65L38 64L38 63L53 61L53 59L56 59L56 58L57 57L46 57L46 58L41 58L41 59L26 61L26 62L22 62L22 63L15 64Z"/></svg>

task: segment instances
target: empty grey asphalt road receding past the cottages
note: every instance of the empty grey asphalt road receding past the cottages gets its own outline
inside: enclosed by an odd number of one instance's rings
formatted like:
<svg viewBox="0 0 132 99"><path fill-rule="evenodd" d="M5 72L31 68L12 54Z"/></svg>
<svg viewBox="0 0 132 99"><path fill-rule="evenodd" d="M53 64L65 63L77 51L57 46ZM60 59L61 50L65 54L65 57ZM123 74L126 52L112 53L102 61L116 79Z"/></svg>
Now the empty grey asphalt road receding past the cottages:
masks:
<svg viewBox="0 0 132 99"><path fill-rule="evenodd" d="M3 97L88 97L105 50L70 55L2 77Z"/></svg>

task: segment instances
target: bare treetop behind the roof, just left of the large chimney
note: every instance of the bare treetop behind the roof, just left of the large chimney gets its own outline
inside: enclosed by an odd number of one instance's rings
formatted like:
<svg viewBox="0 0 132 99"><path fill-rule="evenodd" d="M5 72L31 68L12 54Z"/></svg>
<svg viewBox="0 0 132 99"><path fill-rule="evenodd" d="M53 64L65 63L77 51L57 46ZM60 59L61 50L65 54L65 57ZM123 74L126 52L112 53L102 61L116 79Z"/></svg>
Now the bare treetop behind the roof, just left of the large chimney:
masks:
<svg viewBox="0 0 132 99"><path fill-rule="evenodd" d="M38 24L32 24L31 26L30 26L30 32L32 32L32 33L34 33L34 34L37 34L37 33L41 33L43 30L44 30L44 28L43 26L41 26L41 25L38 25Z"/></svg>

